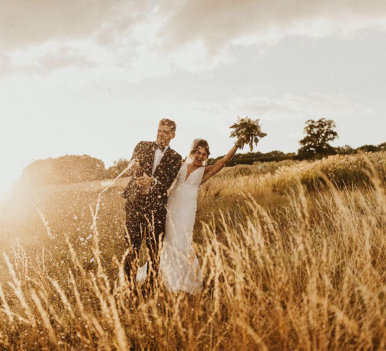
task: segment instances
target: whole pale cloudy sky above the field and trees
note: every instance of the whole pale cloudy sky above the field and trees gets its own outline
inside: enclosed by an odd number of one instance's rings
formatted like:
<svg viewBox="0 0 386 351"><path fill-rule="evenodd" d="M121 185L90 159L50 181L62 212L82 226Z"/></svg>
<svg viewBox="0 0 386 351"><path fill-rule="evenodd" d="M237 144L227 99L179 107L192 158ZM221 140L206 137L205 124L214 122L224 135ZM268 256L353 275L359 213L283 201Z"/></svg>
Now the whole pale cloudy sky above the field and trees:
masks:
<svg viewBox="0 0 386 351"><path fill-rule="evenodd" d="M176 121L171 147L296 152L308 119L333 145L386 141L386 2L0 0L0 194L35 159L89 154L108 167ZM246 151L246 149L245 149Z"/></svg>

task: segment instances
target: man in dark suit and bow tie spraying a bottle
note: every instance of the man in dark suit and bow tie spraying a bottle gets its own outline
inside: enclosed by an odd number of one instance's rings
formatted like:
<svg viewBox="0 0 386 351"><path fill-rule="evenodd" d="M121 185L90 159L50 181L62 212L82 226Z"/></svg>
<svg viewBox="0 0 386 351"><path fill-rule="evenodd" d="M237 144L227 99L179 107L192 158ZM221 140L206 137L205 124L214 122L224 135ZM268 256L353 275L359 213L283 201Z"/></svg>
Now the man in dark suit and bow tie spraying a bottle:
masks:
<svg viewBox="0 0 386 351"><path fill-rule="evenodd" d="M131 247L125 262L125 272L135 274L135 265L143 238L148 249L149 282L153 283L158 273L159 248L162 245L165 221L167 190L177 176L181 155L170 148L175 136L176 124L170 119L161 119L158 124L157 140L140 141L134 148L132 161L135 175L128 183L122 197L126 199L127 241Z"/></svg>

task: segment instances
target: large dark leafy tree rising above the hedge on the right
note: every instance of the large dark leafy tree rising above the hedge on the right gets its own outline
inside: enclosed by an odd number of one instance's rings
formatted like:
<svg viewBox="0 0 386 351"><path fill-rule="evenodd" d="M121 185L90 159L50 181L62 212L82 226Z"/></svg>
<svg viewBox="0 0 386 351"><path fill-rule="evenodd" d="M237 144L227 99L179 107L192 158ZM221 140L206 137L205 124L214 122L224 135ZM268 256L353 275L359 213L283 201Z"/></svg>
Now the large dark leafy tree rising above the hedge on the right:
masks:
<svg viewBox="0 0 386 351"><path fill-rule="evenodd" d="M304 128L307 135L299 141L302 147L298 150L298 155L312 158L334 154L335 149L329 142L338 137L335 128L336 124L331 119L308 120Z"/></svg>

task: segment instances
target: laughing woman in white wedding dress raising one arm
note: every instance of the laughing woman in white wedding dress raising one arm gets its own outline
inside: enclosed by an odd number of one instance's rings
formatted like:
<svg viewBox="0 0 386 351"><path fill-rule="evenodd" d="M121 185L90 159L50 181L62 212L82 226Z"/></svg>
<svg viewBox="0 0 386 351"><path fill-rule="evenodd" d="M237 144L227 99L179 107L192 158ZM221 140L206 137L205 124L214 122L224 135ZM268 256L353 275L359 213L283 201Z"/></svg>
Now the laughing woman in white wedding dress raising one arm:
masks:
<svg viewBox="0 0 386 351"><path fill-rule="evenodd" d="M210 155L208 142L195 139L189 156L182 163L172 186L167 202L165 238L163 241L159 274L165 287L171 291L186 291L194 294L203 287L201 272L196 253L191 246L193 227L196 220L197 194L209 178L213 177L235 155L240 142L214 165L206 166ZM146 279L147 263L137 272L137 281Z"/></svg>

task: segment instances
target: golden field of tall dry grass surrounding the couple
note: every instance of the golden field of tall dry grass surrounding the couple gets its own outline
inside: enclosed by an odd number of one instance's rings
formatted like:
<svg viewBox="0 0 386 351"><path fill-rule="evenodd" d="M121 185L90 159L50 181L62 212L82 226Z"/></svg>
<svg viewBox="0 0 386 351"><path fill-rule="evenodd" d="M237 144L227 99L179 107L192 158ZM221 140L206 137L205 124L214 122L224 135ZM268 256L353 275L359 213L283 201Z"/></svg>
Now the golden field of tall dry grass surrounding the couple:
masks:
<svg viewBox="0 0 386 351"><path fill-rule="evenodd" d="M0 349L386 348L386 152L226 168L199 194L205 289L137 298L125 180L20 190L0 209Z"/></svg>

